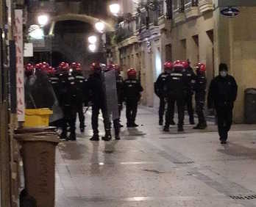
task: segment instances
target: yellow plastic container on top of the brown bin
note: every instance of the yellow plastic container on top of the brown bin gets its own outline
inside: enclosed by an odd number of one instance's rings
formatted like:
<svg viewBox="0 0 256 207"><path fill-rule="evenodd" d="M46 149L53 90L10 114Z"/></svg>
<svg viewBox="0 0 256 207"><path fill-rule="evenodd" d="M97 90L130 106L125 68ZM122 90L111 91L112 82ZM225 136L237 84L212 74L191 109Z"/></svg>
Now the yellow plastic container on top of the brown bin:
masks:
<svg viewBox="0 0 256 207"><path fill-rule="evenodd" d="M24 127L49 126L50 109L26 109Z"/></svg>

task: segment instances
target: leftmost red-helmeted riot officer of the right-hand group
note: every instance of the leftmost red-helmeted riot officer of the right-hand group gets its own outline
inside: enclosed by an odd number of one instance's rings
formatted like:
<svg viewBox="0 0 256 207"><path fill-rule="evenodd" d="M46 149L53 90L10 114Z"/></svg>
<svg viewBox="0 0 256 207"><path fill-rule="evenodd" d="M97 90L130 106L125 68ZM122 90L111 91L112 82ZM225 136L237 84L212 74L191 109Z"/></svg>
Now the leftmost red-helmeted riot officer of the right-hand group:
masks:
<svg viewBox="0 0 256 207"><path fill-rule="evenodd" d="M154 83L154 93L160 99L160 106L159 106L159 125L163 125L163 115L166 111L166 80L171 73L172 70L172 62L168 61L164 65L164 72L161 73L157 81ZM175 125L174 117L171 117L171 125Z"/></svg>

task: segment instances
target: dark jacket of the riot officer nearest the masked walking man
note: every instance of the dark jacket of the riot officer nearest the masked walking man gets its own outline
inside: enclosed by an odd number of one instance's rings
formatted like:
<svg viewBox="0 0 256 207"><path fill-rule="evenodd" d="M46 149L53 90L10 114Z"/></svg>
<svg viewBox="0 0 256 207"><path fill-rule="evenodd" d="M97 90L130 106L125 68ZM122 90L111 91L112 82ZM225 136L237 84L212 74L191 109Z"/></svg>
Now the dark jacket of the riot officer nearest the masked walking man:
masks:
<svg viewBox="0 0 256 207"><path fill-rule="evenodd" d="M196 102L205 102L206 84L207 84L207 80L205 78L205 74L199 74L196 76L196 81L193 86L193 89L196 93L195 94Z"/></svg>

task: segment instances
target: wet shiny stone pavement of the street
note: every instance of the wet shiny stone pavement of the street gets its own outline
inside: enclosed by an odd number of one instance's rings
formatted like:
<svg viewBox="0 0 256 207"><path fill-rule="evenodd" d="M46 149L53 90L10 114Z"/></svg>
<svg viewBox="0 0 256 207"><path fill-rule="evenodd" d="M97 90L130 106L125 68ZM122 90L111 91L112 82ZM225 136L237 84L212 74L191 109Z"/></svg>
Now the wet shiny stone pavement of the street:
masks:
<svg viewBox="0 0 256 207"><path fill-rule="evenodd" d="M142 126L122 128L120 141L90 142L88 112L85 134L57 149L56 206L256 206L256 126L233 126L220 145L213 123L164 133L157 122L141 107Z"/></svg>

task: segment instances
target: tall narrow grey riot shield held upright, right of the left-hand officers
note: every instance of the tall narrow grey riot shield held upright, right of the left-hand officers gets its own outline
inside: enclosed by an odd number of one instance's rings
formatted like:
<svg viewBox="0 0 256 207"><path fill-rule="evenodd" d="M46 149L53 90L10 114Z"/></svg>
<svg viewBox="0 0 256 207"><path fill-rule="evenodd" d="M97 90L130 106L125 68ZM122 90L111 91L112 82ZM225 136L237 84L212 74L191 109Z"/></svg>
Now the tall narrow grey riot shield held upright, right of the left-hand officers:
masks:
<svg viewBox="0 0 256 207"><path fill-rule="evenodd" d="M104 73L104 92L107 104L107 113L112 120L119 118L118 95L116 90L115 70Z"/></svg>

